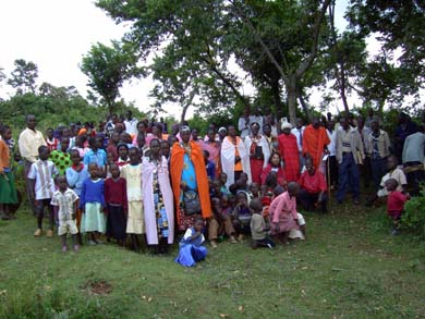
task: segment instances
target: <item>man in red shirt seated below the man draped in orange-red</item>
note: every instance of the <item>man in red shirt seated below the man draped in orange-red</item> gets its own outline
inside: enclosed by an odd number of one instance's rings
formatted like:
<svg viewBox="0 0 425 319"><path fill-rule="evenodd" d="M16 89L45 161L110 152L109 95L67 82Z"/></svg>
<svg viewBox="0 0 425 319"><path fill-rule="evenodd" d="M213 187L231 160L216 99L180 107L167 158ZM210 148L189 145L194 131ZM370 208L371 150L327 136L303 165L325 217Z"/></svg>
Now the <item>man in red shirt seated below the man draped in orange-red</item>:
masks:
<svg viewBox="0 0 425 319"><path fill-rule="evenodd" d="M311 159L305 161L305 171L299 180L300 193L298 199L306 210L313 210L315 207L320 207L321 212L327 212L328 197L326 191L326 179L324 174L315 170Z"/></svg>

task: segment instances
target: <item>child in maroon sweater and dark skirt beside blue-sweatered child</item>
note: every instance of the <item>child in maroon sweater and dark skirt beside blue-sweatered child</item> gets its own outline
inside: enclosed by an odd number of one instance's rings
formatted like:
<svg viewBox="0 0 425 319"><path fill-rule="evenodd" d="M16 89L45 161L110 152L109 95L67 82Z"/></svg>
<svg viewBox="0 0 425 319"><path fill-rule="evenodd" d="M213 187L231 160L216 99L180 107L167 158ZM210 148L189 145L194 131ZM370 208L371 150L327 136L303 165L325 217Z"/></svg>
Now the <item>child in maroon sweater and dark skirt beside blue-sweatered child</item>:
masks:
<svg viewBox="0 0 425 319"><path fill-rule="evenodd" d="M109 167L111 177L105 181L105 203L107 207L107 236L124 246L126 233L126 181L120 177L117 164Z"/></svg>

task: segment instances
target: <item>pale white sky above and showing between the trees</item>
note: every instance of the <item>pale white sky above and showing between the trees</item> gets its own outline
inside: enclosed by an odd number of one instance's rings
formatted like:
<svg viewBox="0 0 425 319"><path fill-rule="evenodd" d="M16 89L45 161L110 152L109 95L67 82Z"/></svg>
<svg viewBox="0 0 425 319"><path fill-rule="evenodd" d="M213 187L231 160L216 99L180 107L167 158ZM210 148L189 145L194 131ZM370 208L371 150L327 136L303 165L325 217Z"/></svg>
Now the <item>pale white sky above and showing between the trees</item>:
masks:
<svg viewBox="0 0 425 319"><path fill-rule="evenodd" d="M347 25L345 5L345 1L337 1L336 25L339 28ZM14 69L14 60L24 59L38 65L38 84L73 85L86 96L87 77L78 66L83 56L96 42L109 45L110 40L120 39L126 27L116 25L92 0L0 0L0 68L8 76ZM154 102L148 97L153 87L151 78L145 78L124 84L120 93L125 101L146 111ZM252 89L250 85L244 88L246 94ZM11 94L7 85L0 87L1 97ZM318 103L319 94L314 91L311 101ZM175 106L165 108L179 116L180 110ZM331 106L331 109L336 108L341 109L342 103ZM192 114L190 109L189 116Z"/></svg>

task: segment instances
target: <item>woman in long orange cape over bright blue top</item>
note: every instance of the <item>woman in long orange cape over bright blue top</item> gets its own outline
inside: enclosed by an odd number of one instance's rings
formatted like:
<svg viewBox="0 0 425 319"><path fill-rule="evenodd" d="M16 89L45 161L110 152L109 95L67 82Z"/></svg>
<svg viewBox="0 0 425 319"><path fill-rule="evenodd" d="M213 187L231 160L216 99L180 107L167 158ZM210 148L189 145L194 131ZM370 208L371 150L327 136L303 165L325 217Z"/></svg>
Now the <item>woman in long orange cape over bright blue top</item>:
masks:
<svg viewBox="0 0 425 319"><path fill-rule="evenodd" d="M171 149L170 172L179 231L185 231L199 214L210 218L211 206L203 151L190 140L189 126L180 130L180 138L182 140L175 142Z"/></svg>

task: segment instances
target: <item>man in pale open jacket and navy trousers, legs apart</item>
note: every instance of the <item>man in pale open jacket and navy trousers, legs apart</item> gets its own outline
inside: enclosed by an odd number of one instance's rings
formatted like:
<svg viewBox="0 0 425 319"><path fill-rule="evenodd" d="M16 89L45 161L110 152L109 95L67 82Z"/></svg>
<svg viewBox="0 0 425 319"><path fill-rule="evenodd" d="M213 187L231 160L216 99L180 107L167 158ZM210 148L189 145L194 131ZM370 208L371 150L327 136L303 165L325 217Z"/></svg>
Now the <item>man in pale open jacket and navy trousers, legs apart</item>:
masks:
<svg viewBox="0 0 425 319"><path fill-rule="evenodd" d="M341 130L337 132L337 161L339 163L339 185L337 200L342 204L348 188L353 194L354 205L360 204L360 174L357 164L364 160L362 138L356 128L350 127L348 118L341 118Z"/></svg>

